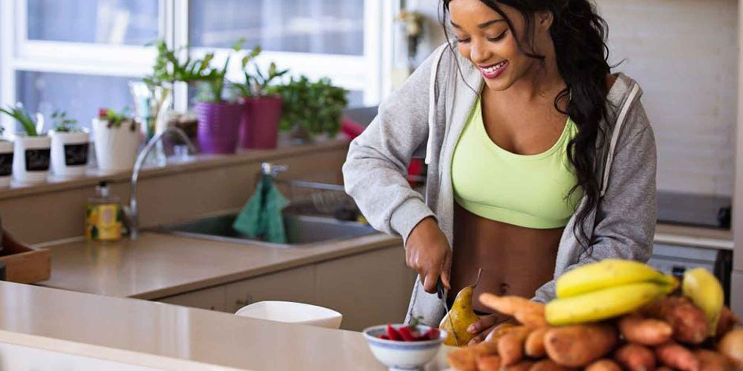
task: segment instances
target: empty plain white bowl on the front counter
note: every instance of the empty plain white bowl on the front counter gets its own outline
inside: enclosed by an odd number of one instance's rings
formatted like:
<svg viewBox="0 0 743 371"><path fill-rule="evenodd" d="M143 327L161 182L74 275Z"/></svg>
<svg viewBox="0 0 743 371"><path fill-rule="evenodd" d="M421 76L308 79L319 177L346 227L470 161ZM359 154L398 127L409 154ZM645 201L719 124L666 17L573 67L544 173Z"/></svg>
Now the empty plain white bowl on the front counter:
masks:
<svg viewBox="0 0 743 371"><path fill-rule="evenodd" d="M343 315L333 309L291 301L259 301L243 306L235 315L328 329L337 329L343 320Z"/></svg>

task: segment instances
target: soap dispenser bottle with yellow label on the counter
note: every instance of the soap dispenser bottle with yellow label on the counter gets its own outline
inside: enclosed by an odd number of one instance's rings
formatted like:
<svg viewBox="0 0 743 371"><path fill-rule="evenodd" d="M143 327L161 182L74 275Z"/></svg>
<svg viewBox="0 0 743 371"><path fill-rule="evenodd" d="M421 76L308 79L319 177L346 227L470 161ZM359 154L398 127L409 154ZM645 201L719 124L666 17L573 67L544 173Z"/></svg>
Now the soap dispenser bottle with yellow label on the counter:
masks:
<svg viewBox="0 0 743 371"><path fill-rule="evenodd" d="M98 183L95 197L88 198L85 209L85 237L97 241L121 240L122 220L119 197L111 196L108 183Z"/></svg>

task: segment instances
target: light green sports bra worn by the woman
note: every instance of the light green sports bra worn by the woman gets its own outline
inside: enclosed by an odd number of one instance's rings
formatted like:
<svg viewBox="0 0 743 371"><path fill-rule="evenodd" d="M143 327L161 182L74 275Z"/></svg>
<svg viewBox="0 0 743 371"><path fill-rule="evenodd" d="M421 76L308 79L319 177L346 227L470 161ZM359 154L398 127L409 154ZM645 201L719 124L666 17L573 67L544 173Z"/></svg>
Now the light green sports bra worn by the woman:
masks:
<svg viewBox="0 0 743 371"><path fill-rule="evenodd" d="M456 203L473 214L533 229L564 227L583 197L565 198L577 178L568 162L567 145L578 132L568 118L557 142L541 154L506 151L485 131L477 99L452 159Z"/></svg>

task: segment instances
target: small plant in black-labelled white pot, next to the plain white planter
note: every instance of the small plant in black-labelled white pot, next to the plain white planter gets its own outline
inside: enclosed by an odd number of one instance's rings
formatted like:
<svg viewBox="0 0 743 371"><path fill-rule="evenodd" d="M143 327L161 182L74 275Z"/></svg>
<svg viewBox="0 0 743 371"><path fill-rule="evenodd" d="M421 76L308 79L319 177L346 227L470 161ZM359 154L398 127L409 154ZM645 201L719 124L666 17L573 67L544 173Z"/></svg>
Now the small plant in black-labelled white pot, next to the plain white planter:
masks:
<svg viewBox="0 0 743 371"><path fill-rule="evenodd" d="M88 166L90 134L83 131L76 119L71 119L65 111L54 111L51 136L51 171L62 178L82 177Z"/></svg>

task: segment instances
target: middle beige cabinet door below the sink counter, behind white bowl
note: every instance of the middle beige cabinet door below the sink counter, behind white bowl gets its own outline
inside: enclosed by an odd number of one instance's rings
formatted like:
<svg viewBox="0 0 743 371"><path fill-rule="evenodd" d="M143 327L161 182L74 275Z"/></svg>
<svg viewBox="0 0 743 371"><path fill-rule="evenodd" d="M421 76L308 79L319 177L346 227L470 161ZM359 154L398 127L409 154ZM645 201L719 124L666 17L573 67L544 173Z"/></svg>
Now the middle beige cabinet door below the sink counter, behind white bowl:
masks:
<svg viewBox="0 0 743 371"><path fill-rule="evenodd" d="M227 312L256 301L314 303L314 266L302 266L225 285Z"/></svg>

